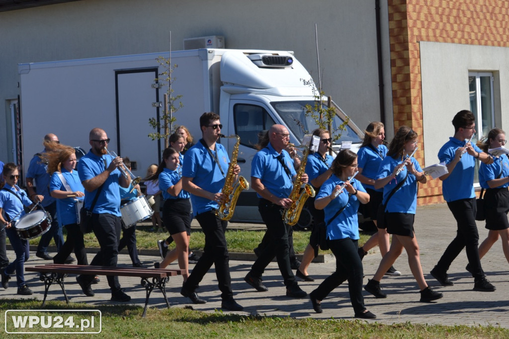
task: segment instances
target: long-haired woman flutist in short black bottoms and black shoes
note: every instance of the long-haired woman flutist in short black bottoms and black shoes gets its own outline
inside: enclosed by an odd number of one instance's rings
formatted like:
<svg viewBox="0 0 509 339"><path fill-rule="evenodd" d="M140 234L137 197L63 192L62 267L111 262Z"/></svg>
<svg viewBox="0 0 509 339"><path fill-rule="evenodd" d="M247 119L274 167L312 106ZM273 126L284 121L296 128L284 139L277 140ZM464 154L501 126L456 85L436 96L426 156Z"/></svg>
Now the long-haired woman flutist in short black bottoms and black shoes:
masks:
<svg viewBox="0 0 509 339"><path fill-rule="evenodd" d="M417 133L407 126L401 126L389 145L387 156L382 160L375 189L383 187L383 203L387 232L392 234L389 251L382 261L373 279L368 280L364 289L377 298L386 298L380 291L380 280L405 248L408 264L420 290L420 301L432 301L442 297L441 293L431 290L426 283L420 266L419 245L415 237L413 223L417 206L417 181L426 183L426 176L414 157L407 157L417 147ZM402 183L395 190L398 183ZM395 190L391 197L391 191Z"/></svg>

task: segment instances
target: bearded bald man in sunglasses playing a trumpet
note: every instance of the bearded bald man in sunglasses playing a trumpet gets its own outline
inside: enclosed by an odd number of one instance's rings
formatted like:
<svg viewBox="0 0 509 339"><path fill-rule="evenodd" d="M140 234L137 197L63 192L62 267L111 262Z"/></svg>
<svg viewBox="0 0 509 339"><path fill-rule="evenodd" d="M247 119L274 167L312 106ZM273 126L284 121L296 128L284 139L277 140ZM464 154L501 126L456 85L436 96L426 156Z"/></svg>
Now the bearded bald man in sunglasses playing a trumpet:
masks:
<svg viewBox="0 0 509 339"><path fill-rule="evenodd" d="M113 158L108 154L109 138L104 130L92 129L89 143L92 148L79 160L78 174L85 188L83 207L91 210L97 195L96 204L92 209L92 230L101 249L90 265L116 267L121 231L119 184L126 188L129 187L130 181L117 168L123 165L122 158ZM88 296L94 295L90 287L93 278L92 275L76 277L83 293ZM108 275L106 278L111 290L111 300L131 300L130 296L122 292L117 276Z"/></svg>

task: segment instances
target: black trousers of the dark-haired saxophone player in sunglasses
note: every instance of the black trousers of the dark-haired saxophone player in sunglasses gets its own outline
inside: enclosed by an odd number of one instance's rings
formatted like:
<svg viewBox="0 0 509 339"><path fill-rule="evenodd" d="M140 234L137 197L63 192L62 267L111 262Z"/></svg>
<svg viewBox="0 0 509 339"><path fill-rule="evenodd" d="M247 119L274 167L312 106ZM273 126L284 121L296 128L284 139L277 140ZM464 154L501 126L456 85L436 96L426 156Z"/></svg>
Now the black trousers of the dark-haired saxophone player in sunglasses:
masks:
<svg viewBox="0 0 509 339"><path fill-rule="evenodd" d="M187 281L182 287L188 292L194 292L205 274L214 264L217 286L221 291L222 300L233 299L232 277L230 276L230 255L228 244L224 237L228 221L222 221L215 215L215 210L196 215L196 220L205 234L203 255L194 266Z"/></svg>

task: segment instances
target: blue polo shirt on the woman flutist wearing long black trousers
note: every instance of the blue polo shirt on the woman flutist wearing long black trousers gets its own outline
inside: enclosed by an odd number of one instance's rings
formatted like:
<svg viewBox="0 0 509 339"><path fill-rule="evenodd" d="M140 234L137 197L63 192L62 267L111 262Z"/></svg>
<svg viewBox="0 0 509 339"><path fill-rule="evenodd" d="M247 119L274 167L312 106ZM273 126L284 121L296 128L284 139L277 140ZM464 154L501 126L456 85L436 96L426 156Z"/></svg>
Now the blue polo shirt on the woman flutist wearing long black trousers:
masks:
<svg viewBox="0 0 509 339"><path fill-rule="evenodd" d="M324 196L329 196L334 190L336 185L342 185L343 180L332 175L327 179L320 191L316 196L316 200ZM350 182L352 186L360 192L366 190L362 187L362 184L357 179L352 179ZM347 205L348 203L348 205ZM352 240L359 239L359 222L357 219L357 210L359 209L359 200L356 195L348 195L346 189L340 193L334 200L332 200L325 208L325 222L329 220L337 213L338 210L342 209L343 206L347 207L340 213L334 220L332 220L327 226L327 239L338 240L350 238Z"/></svg>

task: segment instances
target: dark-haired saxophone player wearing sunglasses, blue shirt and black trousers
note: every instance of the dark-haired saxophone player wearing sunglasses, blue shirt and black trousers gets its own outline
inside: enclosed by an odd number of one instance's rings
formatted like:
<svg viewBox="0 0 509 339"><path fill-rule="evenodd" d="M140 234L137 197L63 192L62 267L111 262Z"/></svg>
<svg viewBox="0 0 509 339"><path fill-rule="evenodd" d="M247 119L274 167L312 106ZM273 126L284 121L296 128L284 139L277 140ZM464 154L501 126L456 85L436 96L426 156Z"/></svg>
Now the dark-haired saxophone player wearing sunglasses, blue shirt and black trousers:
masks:
<svg viewBox="0 0 509 339"><path fill-rule="evenodd" d="M221 291L221 308L241 310L243 307L234 300L231 286L228 246L224 237L228 221L222 221L215 213L223 199L221 189L230 162L224 146L216 143L221 128L217 114L204 113L200 117L202 138L186 152L182 165L182 188L191 194L194 217L205 234L205 247L203 256L194 266L180 293L195 304L205 303L195 290L214 264ZM240 173L238 165L234 166L233 173L236 176Z"/></svg>

